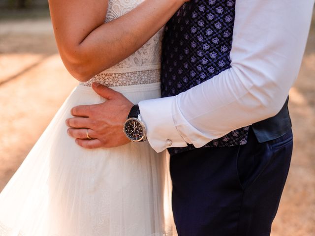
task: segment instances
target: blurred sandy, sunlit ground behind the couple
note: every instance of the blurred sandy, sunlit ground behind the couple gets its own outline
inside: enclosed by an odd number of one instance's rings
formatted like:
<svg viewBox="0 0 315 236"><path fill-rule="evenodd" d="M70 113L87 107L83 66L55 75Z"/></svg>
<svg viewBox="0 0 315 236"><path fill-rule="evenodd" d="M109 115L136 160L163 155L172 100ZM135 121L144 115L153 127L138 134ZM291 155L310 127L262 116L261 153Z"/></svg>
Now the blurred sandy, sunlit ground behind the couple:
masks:
<svg viewBox="0 0 315 236"><path fill-rule="evenodd" d="M47 0L0 0L0 191L77 84ZM315 14L289 108L294 151L272 236L315 236Z"/></svg>

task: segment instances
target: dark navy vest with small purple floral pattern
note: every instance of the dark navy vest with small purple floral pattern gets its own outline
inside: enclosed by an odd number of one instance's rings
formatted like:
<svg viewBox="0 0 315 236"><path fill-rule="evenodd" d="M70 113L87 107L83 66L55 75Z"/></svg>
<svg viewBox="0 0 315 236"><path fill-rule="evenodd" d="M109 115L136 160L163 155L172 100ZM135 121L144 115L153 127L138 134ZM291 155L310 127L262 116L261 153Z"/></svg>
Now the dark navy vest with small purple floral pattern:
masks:
<svg viewBox="0 0 315 236"><path fill-rule="evenodd" d="M177 11L163 39L162 97L184 92L231 67L234 18L235 0L190 0ZM234 130L204 147L246 144L248 130ZM168 150L176 154L193 148Z"/></svg>

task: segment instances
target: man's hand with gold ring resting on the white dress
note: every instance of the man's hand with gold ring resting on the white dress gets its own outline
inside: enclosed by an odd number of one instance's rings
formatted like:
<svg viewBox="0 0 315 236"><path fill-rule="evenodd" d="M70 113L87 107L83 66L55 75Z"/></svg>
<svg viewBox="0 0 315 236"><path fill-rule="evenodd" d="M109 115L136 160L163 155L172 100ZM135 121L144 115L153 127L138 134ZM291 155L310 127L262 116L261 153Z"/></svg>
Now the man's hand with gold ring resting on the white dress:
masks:
<svg viewBox="0 0 315 236"><path fill-rule="evenodd" d="M83 148L112 148L130 142L123 124L133 104L121 93L98 83L92 88L107 100L100 104L73 107L74 118L66 120L68 134ZM92 140L87 139L88 134Z"/></svg>

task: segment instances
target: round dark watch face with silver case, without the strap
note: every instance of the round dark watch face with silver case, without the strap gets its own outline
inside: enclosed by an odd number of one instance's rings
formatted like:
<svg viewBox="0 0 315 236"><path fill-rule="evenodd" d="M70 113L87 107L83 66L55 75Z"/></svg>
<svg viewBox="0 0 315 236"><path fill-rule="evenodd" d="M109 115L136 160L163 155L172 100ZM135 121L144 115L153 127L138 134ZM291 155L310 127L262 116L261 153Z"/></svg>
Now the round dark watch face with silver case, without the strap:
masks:
<svg viewBox="0 0 315 236"><path fill-rule="evenodd" d="M141 141L145 136L145 127L141 120L129 118L124 127L126 136L133 142Z"/></svg>

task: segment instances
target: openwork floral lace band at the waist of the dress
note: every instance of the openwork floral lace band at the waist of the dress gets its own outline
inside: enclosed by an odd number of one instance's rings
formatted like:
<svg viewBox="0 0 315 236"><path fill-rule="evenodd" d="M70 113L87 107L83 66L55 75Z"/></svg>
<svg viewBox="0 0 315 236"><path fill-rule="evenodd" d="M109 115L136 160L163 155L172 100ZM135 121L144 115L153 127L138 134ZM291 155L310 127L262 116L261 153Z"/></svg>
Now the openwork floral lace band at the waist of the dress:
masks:
<svg viewBox="0 0 315 236"><path fill-rule="evenodd" d="M100 73L88 82L80 83L84 86L92 86L93 82L108 87L152 84L160 81L160 70L144 70L126 73Z"/></svg>

